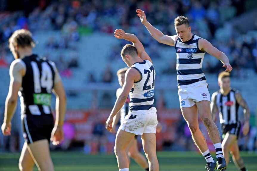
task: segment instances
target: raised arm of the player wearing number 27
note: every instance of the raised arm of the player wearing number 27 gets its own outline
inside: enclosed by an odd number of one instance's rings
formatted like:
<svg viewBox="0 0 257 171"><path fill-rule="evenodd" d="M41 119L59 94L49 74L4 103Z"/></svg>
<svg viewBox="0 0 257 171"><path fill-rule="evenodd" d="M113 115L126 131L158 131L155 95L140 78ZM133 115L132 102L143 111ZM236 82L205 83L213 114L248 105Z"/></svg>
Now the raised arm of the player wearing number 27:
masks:
<svg viewBox="0 0 257 171"><path fill-rule="evenodd" d="M135 46L135 48L137 48L137 55L143 60L149 60L152 62L149 55L145 52L145 48L144 48L143 44L138 40L136 35L125 33L124 30L122 30L122 29L116 29L114 32L114 36L117 39L125 39L125 40L132 42L133 46Z"/></svg>

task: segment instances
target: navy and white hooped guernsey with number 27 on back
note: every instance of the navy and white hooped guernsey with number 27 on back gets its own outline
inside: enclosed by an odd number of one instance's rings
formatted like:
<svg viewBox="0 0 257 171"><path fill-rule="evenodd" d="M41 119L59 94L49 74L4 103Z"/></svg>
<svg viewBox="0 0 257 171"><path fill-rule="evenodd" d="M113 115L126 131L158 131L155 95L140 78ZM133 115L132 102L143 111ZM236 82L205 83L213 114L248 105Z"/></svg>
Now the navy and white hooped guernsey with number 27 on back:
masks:
<svg viewBox="0 0 257 171"><path fill-rule="evenodd" d="M142 79L134 82L130 90L129 114L139 115L157 112L154 106L154 66L150 61L144 60L134 63L131 68L138 70Z"/></svg>

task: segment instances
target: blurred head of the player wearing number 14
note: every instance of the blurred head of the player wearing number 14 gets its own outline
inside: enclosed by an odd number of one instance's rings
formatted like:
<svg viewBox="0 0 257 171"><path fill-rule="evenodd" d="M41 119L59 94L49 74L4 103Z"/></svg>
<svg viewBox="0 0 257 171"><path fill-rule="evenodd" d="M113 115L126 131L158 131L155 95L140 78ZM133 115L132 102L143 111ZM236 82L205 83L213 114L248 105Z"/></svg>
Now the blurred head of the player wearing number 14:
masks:
<svg viewBox="0 0 257 171"><path fill-rule="evenodd" d="M19 52L21 49L32 49L35 47L35 42L32 39L30 31L25 29L16 30L9 38L9 48L15 59L20 58Z"/></svg>

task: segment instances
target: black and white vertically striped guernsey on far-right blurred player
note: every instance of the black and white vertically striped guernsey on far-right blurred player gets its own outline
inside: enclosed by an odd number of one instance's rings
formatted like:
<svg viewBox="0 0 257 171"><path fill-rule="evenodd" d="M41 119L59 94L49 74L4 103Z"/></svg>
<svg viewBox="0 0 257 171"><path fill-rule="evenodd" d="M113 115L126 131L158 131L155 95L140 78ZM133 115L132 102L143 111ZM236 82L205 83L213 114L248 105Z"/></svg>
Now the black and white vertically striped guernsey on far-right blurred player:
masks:
<svg viewBox="0 0 257 171"><path fill-rule="evenodd" d="M236 90L232 89L226 96L222 95L220 90L214 93L219 109L220 123L227 125L238 121L239 103L236 101L235 92Z"/></svg>

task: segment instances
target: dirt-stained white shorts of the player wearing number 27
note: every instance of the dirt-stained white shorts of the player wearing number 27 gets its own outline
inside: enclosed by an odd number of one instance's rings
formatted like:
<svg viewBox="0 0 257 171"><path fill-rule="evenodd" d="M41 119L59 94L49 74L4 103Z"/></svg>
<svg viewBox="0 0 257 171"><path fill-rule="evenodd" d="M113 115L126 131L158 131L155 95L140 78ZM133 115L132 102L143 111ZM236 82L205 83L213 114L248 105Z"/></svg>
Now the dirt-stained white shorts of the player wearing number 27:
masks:
<svg viewBox="0 0 257 171"><path fill-rule="evenodd" d="M152 112L148 114L128 114L120 129L136 135L143 135L144 133L156 133L157 113Z"/></svg>

